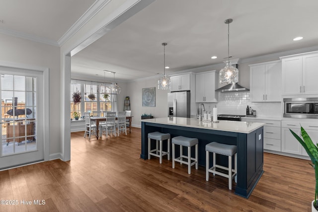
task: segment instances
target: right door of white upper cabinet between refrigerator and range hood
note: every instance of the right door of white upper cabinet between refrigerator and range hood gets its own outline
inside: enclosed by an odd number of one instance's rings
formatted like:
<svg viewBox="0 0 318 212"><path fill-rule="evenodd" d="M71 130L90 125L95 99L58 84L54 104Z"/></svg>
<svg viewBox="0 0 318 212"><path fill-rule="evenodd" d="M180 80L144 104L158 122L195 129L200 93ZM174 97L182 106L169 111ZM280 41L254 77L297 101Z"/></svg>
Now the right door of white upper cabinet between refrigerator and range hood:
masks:
<svg viewBox="0 0 318 212"><path fill-rule="evenodd" d="M205 102L218 102L217 92L215 92L216 80L215 71L204 74L204 95Z"/></svg>

